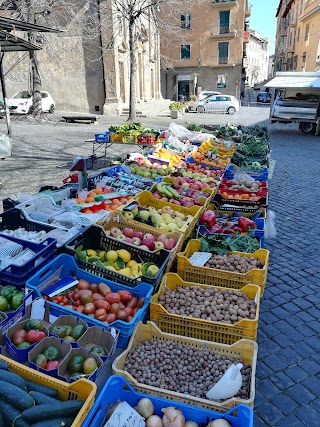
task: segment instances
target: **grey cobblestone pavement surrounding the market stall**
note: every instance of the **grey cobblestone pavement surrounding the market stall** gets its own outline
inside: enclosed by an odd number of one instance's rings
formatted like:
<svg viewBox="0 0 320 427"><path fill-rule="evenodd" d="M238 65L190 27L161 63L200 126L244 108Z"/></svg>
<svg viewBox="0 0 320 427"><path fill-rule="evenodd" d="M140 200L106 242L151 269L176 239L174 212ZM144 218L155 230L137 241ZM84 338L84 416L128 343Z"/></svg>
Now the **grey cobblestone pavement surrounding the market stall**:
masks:
<svg viewBox="0 0 320 427"><path fill-rule="evenodd" d="M265 108L242 107L234 116L188 114L176 122L249 125L265 124L267 117ZM13 157L0 160L0 200L18 191L36 192L44 183L60 184L73 156L91 154L84 141L107 124L123 121L109 117L93 126L16 119ZM160 128L171 122L169 117L140 121ZM300 134L297 125L269 127L276 161L270 209L276 213L277 237L267 242L270 264L259 322L255 427L315 427L320 425L320 138ZM133 150L116 148L111 155Z"/></svg>

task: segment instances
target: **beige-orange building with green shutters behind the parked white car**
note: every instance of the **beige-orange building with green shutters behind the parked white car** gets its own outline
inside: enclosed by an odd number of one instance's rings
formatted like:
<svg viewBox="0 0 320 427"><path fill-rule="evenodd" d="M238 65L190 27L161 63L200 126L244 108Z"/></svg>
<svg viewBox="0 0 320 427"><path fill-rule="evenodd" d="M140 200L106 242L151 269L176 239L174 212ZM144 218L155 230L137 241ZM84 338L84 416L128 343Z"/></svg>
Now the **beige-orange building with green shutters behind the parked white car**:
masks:
<svg viewBox="0 0 320 427"><path fill-rule="evenodd" d="M161 11L162 14L166 10ZM251 9L247 0L203 0L177 10L180 31L161 33L161 89L173 100L215 90L240 98Z"/></svg>

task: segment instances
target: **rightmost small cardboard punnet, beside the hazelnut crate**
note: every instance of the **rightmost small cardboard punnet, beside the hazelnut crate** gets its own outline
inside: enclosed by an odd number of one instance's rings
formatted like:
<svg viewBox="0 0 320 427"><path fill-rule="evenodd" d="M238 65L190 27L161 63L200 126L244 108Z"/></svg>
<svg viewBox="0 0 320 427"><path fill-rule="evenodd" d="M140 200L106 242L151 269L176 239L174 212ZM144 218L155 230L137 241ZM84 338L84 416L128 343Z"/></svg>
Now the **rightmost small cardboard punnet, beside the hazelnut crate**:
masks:
<svg viewBox="0 0 320 427"><path fill-rule="evenodd" d="M118 336L120 331L115 328L101 329L99 326L91 326L79 338L78 344L80 347L90 351L94 346L99 345L106 349L107 356L99 356L101 360L108 362L117 347Z"/></svg>

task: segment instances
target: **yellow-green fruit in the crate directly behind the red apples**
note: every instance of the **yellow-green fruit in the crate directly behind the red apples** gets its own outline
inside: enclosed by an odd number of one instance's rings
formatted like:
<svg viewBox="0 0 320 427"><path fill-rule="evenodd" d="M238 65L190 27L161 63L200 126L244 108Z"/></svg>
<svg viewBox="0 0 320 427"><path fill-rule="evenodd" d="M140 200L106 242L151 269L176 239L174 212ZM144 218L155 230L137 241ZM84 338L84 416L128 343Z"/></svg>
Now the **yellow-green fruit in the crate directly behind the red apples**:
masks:
<svg viewBox="0 0 320 427"><path fill-rule="evenodd" d="M157 229L169 232L180 231L185 233L193 221L193 216L175 211L170 206L156 209L153 206L143 205L131 211L122 211L122 215L127 221L151 223Z"/></svg>

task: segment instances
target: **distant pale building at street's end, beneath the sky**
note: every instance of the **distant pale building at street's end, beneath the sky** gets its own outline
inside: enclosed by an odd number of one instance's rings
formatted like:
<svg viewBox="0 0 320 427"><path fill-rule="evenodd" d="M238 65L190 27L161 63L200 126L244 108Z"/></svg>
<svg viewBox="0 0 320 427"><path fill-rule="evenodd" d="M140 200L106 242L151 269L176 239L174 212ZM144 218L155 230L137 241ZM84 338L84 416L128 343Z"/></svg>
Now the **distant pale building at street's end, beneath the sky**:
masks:
<svg viewBox="0 0 320 427"><path fill-rule="evenodd" d="M247 45L247 84L254 86L268 78L269 39L261 38L255 30L249 30L250 39Z"/></svg>

